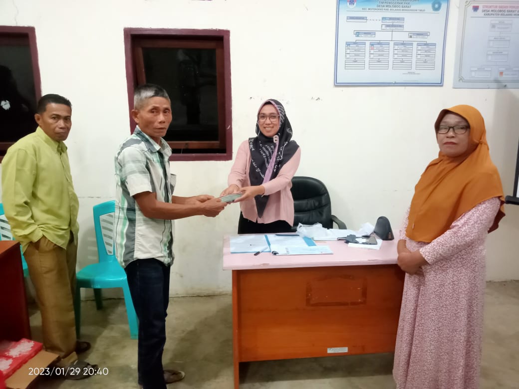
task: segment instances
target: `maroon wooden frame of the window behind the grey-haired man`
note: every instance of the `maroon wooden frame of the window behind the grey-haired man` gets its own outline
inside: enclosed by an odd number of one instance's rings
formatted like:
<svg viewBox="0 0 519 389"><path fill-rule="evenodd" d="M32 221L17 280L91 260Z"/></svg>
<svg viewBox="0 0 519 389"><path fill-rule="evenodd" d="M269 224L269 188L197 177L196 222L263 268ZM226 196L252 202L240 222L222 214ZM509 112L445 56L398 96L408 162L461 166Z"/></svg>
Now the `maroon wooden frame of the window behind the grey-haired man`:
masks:
<svg viewBox="0 0 519 389"><path fill-rule="evenodd" d="M231 84L230 84L230 33L228 30L190 30L190 29L141 29L125 28L125 62L126 62L126 82L128 91L128 107L133 108L133 91L136 75L134 74L134 39L160 39L161 37L200 40L218 40L223 43L223 50L217 49L223 55L223 80L224 87L218 88L218 104L225 104L224 117L219 119L218 127L225 132L225 153L214 154L173 154L170 160L173 161L228 161L233 157L233 126L231 109ZM220 112L220 110L219 110ZM135 122L130 116L130 131L133 132ZM179 142L168 142L176 144Z"/></svg>

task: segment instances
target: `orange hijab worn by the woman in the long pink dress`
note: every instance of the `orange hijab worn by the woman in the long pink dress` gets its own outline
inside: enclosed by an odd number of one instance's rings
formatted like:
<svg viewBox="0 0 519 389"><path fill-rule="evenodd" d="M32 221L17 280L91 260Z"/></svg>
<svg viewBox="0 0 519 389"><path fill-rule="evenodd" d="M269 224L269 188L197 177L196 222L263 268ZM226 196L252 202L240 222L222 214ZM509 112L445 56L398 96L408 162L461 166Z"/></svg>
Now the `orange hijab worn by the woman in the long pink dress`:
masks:
<svg viewBox="0 0 519 389"><path fill-rule="evenodd" d="M458 114L469 122L469 147L465 154L453 158L440 151L416 184L406 235L419 242L438 238L462 214L493 197L499 197L501 207L488 232L497 229L504 216L503 186L490 159L483 116L470 105L456 105L440 112L435 129L448 113Z"/></svg>

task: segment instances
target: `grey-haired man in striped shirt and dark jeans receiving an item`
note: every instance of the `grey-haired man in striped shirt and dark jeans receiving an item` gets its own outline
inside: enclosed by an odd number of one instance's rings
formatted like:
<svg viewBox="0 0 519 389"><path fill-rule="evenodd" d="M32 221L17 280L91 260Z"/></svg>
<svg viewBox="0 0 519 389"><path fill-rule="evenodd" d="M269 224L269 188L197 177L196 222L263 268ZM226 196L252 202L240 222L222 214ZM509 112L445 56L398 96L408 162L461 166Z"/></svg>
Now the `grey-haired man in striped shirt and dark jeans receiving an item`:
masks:
<svg viewBox="0 0 519 389"><path fill-rule="evenodd" d="M172 119L167 92L153 84L139 86L133 105L137 127L115 157L116 255L139 317L139 384L144 389L165 389L166 383L184 378L182 371L162 367L174 219L214 217L226 204L209 195L173 196L171 148L162 138Z"/></svg>

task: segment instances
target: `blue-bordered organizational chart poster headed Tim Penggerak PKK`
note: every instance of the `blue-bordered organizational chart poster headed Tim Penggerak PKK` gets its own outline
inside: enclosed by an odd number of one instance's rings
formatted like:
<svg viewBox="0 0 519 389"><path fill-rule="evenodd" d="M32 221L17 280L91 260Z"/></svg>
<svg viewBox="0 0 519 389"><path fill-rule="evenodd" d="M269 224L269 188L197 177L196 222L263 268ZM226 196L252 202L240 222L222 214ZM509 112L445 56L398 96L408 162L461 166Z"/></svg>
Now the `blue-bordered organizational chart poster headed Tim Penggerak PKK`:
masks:
<svg viewBox="0 0 519 389"><path fill-rule="evenodd" d="M338 0L335 85L443 85L448 0Z"/></svg>

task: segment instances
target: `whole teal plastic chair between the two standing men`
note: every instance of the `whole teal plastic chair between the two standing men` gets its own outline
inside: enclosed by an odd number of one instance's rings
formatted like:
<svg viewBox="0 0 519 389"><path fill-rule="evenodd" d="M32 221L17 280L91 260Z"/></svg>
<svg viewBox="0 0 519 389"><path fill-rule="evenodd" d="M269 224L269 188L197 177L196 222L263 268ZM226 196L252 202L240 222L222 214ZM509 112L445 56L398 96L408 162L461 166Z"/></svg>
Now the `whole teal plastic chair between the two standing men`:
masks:
<svg viewBox="0 0 519 389"><path fill-rule="evenodd" d="M114 248L114 214L115 201L106 201L94 205L94 229L97 243L99 263L92 263L76 273L76 297L74 300L76 311L76 335L79 338L81 329L81 288L94 289L95 307L103 308L101 289L122 288L125 295L126 313L130 337L137 339L139 334L139 322L133 308L133 301L126 279L126 272L119 265L115 257Z"/></svg>

